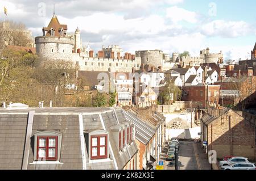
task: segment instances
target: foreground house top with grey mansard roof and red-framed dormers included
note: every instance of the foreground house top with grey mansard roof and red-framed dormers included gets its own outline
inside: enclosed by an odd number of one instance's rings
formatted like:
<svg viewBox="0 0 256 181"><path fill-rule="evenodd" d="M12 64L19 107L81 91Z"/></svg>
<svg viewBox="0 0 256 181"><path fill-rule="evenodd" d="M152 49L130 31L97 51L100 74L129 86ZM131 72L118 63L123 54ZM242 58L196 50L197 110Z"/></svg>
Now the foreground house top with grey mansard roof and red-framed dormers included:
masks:
<svg viewBox="0 0 256 181"><path fill-rule="evenodd" d="M1 108L0 169L137 169L121 108Z"/></svg>

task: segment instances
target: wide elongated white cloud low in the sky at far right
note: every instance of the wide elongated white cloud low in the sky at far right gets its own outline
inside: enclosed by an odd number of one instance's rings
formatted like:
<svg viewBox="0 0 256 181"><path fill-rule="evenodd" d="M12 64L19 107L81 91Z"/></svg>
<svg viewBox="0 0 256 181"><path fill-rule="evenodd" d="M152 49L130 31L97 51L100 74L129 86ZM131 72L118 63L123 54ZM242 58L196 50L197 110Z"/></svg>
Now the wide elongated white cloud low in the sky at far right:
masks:
<svg viewBox="0 0 256 181"><path fill-rule="evenodd" d="M201 26L201 32L207 36L238 37L251 33L250 24L239 21L214 20Z"/></svg>

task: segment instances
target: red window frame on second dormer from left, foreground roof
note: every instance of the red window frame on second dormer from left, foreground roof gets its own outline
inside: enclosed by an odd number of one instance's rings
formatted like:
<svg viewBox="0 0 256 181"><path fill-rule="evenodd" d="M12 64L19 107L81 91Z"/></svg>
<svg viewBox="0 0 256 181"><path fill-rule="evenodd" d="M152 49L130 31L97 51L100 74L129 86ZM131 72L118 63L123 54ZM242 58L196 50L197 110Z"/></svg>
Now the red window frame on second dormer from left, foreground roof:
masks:
<svg viewBox="0 0 256 181"><path fill-rule="evenodd" d="M105 145L100 145L100 138L105 137ZM92 139L97 138L97 146L92 146ZM100 148L105 147L105 155L100 155ZM92 156L92 149L97 148L97 156ZM108 158L108 134L90 136L90 159L105 159Z"/></svg>

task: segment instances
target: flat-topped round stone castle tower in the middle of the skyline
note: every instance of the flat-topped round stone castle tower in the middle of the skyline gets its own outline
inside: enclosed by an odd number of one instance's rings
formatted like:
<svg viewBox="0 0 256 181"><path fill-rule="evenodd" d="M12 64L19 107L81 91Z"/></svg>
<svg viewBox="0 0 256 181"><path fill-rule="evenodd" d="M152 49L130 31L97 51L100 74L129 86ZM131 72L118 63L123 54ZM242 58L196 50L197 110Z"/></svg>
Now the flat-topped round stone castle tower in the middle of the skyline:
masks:
<svg viewBox="0 0 256 181"><path fill-rule="evenodd" d="M142 50L135 52L136 57L141 57L141 63L152 64L158 68L163 66L163 51L162 50Z"/></svg>

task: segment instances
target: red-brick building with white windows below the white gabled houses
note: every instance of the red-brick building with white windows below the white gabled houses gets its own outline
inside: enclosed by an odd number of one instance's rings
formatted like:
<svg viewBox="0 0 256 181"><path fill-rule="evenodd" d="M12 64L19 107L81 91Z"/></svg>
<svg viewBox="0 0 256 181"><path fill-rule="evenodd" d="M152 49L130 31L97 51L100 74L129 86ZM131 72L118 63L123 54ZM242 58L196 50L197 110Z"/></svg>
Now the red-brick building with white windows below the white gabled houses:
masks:
<svg viewBox="0 0 256 181"><path fill-rule="evenodd" d="M220 99L220 86L218 85L183 86L181 89L184 101L200 102L200 107L218 105Z"/></svg>

